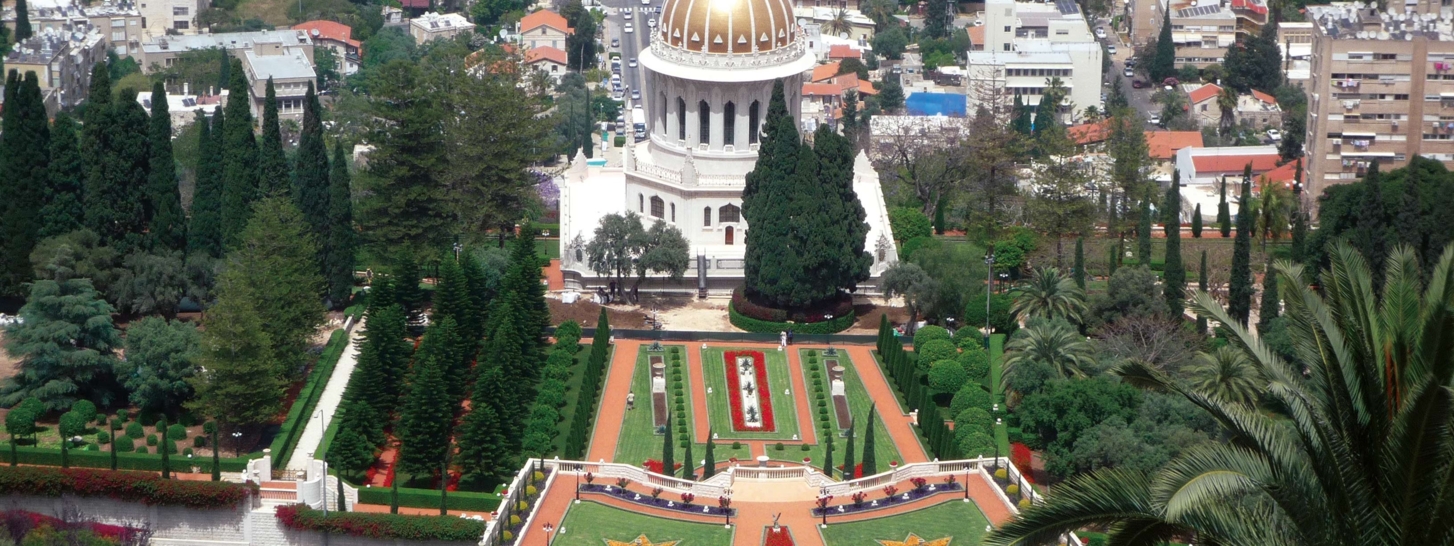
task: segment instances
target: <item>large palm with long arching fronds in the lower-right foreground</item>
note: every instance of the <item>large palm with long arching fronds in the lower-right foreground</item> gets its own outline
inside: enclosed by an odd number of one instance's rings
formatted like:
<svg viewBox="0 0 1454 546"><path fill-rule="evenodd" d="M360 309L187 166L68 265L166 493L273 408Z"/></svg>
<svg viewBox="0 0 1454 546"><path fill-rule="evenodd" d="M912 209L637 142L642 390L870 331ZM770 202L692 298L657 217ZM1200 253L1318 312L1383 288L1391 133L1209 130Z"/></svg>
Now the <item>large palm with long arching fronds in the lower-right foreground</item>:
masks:
<svg viewBox="0 0 1454 546"><path fill-rule="evenodd" d="M1125 380L1207 411L1227 441L1191 449L1156 473L1083 475L1021 513L986 545L1037 545L1083 526L1111 543L1195 536L1208 545L1454 543L1454 247L1421 283L1407 247L1387 258L1383 298L1362 256L1330 248L1319 295L1278 261L1293 364L1200 293L1262 375L1262 408L1178 383L1144 364Z"/></svg>

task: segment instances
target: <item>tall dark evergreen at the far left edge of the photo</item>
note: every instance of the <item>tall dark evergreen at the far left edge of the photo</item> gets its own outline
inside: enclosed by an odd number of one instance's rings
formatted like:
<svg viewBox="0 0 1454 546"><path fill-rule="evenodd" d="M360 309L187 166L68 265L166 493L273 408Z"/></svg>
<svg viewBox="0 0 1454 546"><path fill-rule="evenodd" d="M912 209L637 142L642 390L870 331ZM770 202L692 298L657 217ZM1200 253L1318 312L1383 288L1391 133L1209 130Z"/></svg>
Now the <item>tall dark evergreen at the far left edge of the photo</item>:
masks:
<svg viewBox="0 0 1454 546"><path fill-rule="evenodd" d="M20 6L25 7L23 4ZM10 89L16 87L12 94ZM39 240L41 206L49 186L51 128L39 78L15 70L6 77L4 121L0 125L0 295L20 293L32 279L31 250Z"/></svg>

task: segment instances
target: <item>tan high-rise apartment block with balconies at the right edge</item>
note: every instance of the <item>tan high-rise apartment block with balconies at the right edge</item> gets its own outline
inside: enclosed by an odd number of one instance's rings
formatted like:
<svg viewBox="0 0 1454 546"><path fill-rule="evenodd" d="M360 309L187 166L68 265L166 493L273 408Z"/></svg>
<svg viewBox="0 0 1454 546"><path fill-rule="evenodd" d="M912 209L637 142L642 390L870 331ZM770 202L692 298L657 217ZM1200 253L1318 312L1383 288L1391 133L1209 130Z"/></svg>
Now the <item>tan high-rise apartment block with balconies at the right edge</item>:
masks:
<svg viewBox="0 0 1454 546"><path fill-rule="evenodd" d="M1454 164L1454 16L1439 4L1309 6L1307 187L1389 171L1413 155Z"/></svg>

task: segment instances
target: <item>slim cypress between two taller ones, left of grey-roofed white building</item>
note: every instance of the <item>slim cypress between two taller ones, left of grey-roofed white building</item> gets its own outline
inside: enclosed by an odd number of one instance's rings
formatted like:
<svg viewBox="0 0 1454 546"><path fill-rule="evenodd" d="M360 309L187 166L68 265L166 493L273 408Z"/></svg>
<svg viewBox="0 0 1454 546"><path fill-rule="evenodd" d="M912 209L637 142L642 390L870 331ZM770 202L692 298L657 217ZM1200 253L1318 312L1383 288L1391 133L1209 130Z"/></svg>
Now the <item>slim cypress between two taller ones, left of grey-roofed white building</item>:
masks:
<svg viewBox="0 0 1454 546"><path fill-rule="evenodd" d="M222 256L222 107L196 112L196 189L192 192L192 224L188 225L188 253L214 258Z"/></svg>

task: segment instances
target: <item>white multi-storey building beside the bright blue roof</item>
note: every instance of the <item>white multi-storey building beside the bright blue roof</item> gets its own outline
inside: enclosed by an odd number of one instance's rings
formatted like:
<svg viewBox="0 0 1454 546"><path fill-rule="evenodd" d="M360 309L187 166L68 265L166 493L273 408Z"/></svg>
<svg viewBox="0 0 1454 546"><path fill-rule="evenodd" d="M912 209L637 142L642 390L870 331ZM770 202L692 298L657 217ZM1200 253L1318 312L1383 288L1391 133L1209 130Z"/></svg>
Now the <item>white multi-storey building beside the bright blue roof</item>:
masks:
<svg viewBox="0 0 1454 546"><path fill-rule="evenodd" d="M987 0L983 49L967 55L968 110L981 100L977 90L999 87L1025 105L1040 105L1051 78L1069 91L1066 110L1099 109L1102 52L1073 0Z"/></svg>

